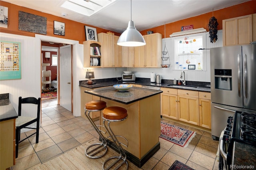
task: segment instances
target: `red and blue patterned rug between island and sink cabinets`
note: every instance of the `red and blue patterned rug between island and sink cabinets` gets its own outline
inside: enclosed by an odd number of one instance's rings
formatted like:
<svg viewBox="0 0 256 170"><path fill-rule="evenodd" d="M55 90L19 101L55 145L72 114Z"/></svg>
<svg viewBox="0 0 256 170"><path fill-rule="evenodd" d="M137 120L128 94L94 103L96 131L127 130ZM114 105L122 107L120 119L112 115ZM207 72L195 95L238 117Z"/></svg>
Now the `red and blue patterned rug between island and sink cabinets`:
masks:
<svg viewBox="0 0 256 170"><path fill-rule="evenodd" d="M188 146L196 132L161 122L160 137L182 147Z"/></svg>

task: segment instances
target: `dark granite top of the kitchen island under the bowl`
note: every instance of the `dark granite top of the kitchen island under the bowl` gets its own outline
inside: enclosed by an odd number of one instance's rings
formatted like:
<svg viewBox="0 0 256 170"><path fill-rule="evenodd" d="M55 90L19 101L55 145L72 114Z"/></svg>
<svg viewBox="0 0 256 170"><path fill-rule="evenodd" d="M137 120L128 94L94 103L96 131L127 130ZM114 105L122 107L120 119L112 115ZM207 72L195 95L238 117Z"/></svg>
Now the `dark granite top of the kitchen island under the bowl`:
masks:
<svg viewBox="0 0 256 170"><path fill-rule="evenodd" d="M132 87L127 92L120 92L114 87L104 87L100 89L84 91L84 93L96 95L126 105L145 99L147 97L160 94L162 92L163 91L160 90L144 89L140 87Z"/></svg>

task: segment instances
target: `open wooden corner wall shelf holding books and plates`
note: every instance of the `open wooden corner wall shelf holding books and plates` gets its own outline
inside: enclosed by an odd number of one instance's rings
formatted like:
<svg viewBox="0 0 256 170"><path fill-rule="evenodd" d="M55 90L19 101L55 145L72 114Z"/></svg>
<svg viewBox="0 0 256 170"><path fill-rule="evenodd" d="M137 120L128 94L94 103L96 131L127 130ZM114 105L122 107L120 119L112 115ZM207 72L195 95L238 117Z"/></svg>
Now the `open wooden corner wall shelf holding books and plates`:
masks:
<svg viewBox="0 0 256 170"><path fill-rule="evenodd" d="M84 67L102 67L101 43L84 41Z"/></svg>

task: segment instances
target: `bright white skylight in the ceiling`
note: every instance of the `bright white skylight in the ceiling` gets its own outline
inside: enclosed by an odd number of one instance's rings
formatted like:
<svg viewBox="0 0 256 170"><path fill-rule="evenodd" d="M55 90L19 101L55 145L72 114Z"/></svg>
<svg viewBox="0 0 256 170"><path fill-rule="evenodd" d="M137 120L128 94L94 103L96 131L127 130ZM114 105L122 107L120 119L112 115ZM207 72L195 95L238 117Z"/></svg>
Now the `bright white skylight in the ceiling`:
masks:
<svg viewBox="0 0 256 170"><path fill-rule="evenodd" d="M92 16L116 0L67 0L61 7L85 16Z"/></svg>

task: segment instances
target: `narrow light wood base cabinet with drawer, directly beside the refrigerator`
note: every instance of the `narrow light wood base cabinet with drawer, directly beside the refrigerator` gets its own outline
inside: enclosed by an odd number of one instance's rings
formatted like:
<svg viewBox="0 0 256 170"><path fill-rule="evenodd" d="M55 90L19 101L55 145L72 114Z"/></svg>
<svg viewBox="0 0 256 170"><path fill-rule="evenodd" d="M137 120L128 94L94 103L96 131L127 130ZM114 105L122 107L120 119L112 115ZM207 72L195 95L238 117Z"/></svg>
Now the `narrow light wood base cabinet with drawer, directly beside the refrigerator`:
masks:
<svg viewBox="0 0 256 170"><path fill-rule="evenodd" d="M211 128L211 93L199 91L200 126Z"/></svg>

